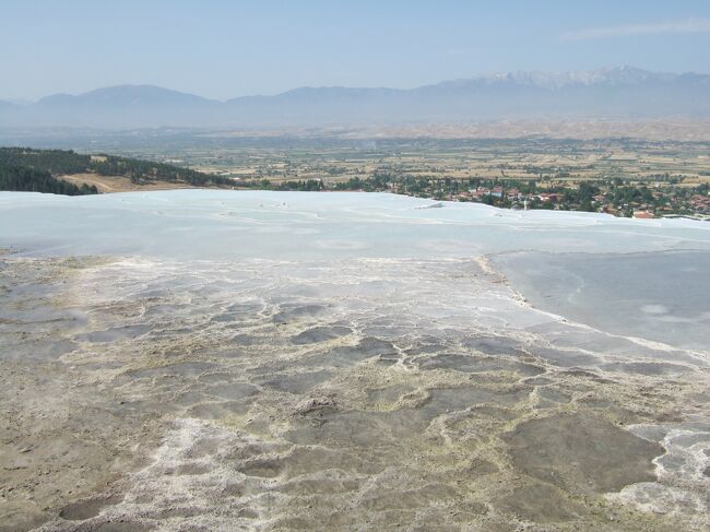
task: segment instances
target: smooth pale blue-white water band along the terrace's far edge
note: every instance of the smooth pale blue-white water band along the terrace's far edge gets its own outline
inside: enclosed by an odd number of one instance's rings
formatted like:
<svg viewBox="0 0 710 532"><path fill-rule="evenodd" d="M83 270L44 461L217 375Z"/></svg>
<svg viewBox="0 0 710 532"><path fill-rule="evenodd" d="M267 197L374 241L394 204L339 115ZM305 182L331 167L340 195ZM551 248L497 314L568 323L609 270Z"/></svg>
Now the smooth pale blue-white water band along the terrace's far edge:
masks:
<svg viewBox="0 0 710 532"><path fill-rule="evenodd" d="M0 246L177 260L447 258L518 250L710 249L710 224L513 212L384 193L0 192Z"/></svg>

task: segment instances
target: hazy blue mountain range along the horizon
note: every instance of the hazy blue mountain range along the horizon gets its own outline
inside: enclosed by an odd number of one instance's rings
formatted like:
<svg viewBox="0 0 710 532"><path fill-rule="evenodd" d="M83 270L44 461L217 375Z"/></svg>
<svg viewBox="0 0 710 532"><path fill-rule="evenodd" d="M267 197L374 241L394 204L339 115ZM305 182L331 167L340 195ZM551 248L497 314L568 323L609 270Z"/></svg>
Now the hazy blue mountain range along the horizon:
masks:
<svg viewBox="0 0 710 532"><path fill-rule="evenodd" d="M511 72L417 88L301 87L220 102L153 85L0 102L0 127L263 128L493 119L710 118L710 75L618 67Z"/></svg>

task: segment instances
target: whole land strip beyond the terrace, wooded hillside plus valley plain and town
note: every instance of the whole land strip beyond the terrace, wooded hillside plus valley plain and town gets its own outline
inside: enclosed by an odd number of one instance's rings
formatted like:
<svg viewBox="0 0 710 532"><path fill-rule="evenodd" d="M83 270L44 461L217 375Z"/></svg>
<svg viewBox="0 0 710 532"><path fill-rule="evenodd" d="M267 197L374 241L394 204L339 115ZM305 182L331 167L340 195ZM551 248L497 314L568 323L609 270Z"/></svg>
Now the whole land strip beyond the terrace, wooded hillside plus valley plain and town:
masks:
<svg viewBox="0 0 710 532"><path fill-rule="evenodd" d="M326 145L309 155L301 150L234 146L221 147L216 155L181 150L177 158L166 149L117 156L4 147L0 190L70 196L186 187L391 192L513 210L710 221L706 143L496 141L451 146L398 141L378 150Z"/></svg>

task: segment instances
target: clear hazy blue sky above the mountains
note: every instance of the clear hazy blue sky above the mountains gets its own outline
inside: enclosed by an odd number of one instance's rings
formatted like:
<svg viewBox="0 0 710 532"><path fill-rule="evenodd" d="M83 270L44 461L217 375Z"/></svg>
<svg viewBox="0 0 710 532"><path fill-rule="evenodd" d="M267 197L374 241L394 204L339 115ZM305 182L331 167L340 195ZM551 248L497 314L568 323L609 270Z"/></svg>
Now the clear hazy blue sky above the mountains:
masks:
<svg viewBox="0 0 710 532"><path fill-rule="evenodd" d="M150 83L224 99L632 64L710 72L710 1L2 0L0 98Z"/></svg>

